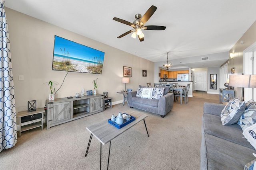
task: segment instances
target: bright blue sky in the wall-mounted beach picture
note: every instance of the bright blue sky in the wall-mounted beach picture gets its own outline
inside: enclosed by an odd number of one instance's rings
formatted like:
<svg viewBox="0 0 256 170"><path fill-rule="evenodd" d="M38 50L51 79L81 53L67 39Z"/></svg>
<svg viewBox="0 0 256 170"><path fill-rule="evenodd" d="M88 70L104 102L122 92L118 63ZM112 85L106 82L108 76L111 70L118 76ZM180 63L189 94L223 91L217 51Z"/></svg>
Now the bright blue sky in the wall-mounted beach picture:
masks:
<svg viewBox="0 0 256 170"><path fill-rule="evenodd" d="M85 45L81 45L79 43L75 43L73 41L55 35L54 54L64 55L64 48L66 54L68 52L70 54L70 57L72 58L92 61L94 60L94 57L97 57L97 60L104 60L104 52L92 49Z"/></svg>

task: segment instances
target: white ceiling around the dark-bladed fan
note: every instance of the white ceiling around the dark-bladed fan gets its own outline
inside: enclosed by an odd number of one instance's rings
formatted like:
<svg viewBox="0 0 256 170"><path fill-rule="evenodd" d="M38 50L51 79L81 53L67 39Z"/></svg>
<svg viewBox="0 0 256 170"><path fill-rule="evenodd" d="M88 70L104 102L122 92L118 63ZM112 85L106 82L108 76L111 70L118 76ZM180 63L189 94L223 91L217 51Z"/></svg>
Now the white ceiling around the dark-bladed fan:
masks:
<svg viewBox="0 0 256 170"><path fill-rule="evenodd" d="M132 27L112 18L133 22L151 5L158 9L145 25L166 29L143 30L142 42L131 34L118 39ZM5 6L153 62L165 61L166 52L170 60L227 52L256 16L255 0L6 0Z"/></svg>

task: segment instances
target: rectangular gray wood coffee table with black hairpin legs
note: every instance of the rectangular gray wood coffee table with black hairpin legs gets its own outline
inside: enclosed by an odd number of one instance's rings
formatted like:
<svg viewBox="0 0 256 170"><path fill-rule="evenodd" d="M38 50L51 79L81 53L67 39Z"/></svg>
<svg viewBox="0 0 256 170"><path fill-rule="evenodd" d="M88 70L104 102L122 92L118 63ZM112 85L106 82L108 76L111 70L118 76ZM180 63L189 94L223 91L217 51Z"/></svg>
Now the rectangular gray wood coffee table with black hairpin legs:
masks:
<svg viewBox="0 0 256 170"><path fill-rule="evenodd" d="M108 119L106 119L105 121L103 121L101 123L96 123L95 125L86 127L86 129L91 133L91 135L90 135L90 139L89 139L89 143L88 143L88 146L86 149L85 156L87 156L87 154L88 154L90 143L92 141L92 136L96 137L96 139L98 139L100 141L100 169L101 169L101 147L102 147L102 144L105 145L108 142L110 142L109 151L108 151L108 164L109 164L111 141L142 120L144 121L144 124L146 127L145 118L148 117L148 115L146 115L144 113L140 113L138 111L134 111L134 110L128 110L124 113L132 115L136 119L134 121L132 121L131 123L129 123L128 125L122 127L121 129L118 129L117 127L114 127L113 125L108 123ZM147 127L146 127L146 131L148 134ZM148 135L148 137L149 137L149 135Z"/></svg>

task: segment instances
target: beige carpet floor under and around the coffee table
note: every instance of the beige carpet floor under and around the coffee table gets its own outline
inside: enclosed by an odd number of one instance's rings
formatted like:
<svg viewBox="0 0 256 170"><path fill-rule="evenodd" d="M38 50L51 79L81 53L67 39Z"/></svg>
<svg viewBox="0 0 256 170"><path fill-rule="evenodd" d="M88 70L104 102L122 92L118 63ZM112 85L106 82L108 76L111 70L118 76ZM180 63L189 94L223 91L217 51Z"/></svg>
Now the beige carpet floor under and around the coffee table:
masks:
<svg viewBox="0 0 256 170"><path fill-rule="evenodd" d="M180 99L179 99L180 100ZM199 170L201 125L204 102L218 100L188 98L188 104L175 102L164 117L146 113L143 121L128 129L111 142L110 170ZM125 113L127 103L88 117L57 125L43 131L40 128L22 132L16 145L0 152L3 170L98 170L100 142L92 137L85 157L90 133L86 127L109 119L112 114ZM102 145L102 169L108 162L109 143Z"/></svg>

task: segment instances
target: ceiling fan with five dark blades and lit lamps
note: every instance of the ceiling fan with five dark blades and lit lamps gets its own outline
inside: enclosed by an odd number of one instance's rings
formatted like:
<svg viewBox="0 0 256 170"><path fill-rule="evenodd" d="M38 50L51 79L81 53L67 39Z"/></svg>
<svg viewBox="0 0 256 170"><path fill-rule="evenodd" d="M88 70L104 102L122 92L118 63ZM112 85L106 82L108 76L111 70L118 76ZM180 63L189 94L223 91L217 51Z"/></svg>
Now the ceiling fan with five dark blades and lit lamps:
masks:
<svg viewBox="0 0 256 170"><path fill-rule="evenodd" d="M141 16L140 14L136 14L135 18L136 20L133 21L133 23L129 22L129 21L125 21L122 20L120 18L116 18L114 17L113 20L124 23L126 25L129 25L131 27L133 27L132 30L127 31L126 33L123 33L122 35L120 35L117 38L121 38L124 37L125 35L128 35L129 33L132 33L132 37L136 38L136 36L138 35L140 41L144 40L144 34L142 33L142 29L145 30L164 30L166 27L164 26L158 26L158 25L148 25L148 26L144 26L144 24L146 23L146 21L148 21L148 19L154 14L154 12L156 11L156 6L151 6L147 12L144 14L144 16Z"/></svg>

